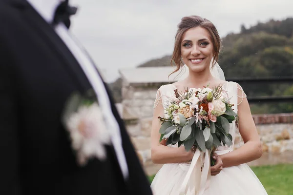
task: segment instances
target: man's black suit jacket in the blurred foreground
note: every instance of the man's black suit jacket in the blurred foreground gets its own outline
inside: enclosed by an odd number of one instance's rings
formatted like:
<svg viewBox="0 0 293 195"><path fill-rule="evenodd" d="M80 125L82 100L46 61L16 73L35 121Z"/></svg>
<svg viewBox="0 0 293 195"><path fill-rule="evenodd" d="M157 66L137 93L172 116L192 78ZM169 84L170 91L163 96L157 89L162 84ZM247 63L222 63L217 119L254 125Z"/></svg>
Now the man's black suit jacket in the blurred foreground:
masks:
<svg viewBox="0 0 293 195"><path fill-rule="evenodd" d="M50 24L24 0L0 0L0 195L151 195L107 87L129 179L110 146L105 162L76 163L61 115L72 92L89 88Z"/></svg>

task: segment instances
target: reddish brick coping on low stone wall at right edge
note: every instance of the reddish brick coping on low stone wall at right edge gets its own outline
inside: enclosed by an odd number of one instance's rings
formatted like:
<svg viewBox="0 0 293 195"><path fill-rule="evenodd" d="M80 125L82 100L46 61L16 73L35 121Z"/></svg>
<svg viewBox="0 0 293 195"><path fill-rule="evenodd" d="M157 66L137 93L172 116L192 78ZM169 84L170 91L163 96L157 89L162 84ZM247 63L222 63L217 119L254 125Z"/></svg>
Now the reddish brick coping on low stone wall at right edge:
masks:
<svg viewBox="0 0 293 195"><path fill-rule="evenodd" d="M252 118L256 125L273 123L293 123L293 113L253 115Z"/></svg>

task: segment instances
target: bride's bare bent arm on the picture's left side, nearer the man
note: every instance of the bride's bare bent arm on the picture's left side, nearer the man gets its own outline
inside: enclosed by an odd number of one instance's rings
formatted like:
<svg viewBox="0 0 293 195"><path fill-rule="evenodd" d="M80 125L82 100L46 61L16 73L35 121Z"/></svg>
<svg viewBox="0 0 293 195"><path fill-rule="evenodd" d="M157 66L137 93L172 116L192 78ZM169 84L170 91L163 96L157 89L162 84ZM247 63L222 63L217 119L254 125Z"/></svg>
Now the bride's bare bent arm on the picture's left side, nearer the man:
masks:
<svg viewBox="0 0 293 195"><path fill-rule="evenodd" d="M158 91L158 93L160 93ZM159 96L160 97L160 96ZM184 146L179 148L171 148L166 146L166 140L159 142L161 134L159 129L161 128L161 123L158 117L164 117L164 108L162 106L162 100L157 99L157 106L154 108L152 128L151 128L151 159L153 163L156 164L166 164L166 163L176 163L191 160L193 157L193 152L186 152Z"/></svg>

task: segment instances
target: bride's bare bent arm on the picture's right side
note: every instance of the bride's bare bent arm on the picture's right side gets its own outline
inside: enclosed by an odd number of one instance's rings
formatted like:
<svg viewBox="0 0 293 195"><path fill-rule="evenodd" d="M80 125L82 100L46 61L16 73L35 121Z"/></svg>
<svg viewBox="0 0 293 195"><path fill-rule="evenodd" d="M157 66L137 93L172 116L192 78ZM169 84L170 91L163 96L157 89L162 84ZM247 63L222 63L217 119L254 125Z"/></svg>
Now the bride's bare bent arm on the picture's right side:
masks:
<svg viewBox="0 0 293 195"><path fill-rule="evenodd" d="M244 94L239 85L238 94ZM239 132L245 144L237 150L220 156L223 167L247 163L262 156L262 144L251 116L247 98L238 96L238 104Z"/></svg>

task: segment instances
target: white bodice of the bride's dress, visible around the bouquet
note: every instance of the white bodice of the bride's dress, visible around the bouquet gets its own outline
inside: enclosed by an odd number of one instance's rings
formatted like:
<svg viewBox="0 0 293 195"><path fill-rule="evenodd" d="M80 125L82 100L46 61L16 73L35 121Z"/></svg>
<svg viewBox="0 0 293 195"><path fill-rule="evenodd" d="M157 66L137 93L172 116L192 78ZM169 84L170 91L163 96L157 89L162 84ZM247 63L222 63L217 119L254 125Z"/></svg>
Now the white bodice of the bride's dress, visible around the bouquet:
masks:
<svg viewBox="0 0 293 195"><path fill-rule="evenodd" d="M246 94L244 93L242 87L236 82L226 81L223 84L222 88L227 92L228 97L230 98L230 103L234 104L234 106L232 108L237 113L238 105L242 103L243 98L246 98ZM162 100L164 113L166 113L165 109L167 108L169 99L174 96L175 89L177 89L177 88L174 84L162 85L158 89L154 108L159 104L160 100ZM167 116L165 116L165 117L167 117ZM220 150L233 150L236 131L238 132L238 129L235 124L235 121L233 121L232 123L230 123L230 134L232 136L232 145L230 147L228 147L227 145L220 146L217 148L218 151L220 151ZM177 147L177 146L170 145L170 147Z"/></svg>

